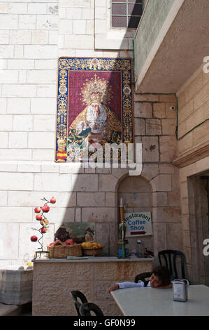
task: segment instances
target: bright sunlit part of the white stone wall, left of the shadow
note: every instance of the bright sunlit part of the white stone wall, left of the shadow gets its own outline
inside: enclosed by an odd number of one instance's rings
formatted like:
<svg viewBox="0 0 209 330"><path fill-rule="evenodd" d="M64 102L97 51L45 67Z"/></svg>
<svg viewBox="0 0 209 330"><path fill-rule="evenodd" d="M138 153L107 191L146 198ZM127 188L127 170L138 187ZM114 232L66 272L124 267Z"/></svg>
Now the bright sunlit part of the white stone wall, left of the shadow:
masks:
<svg viewBox="0 0 209 330"><path fill-rule="evenodd" d="M84 170L54 161L57 59L127 56L123 50L119 52L125 30L114 32L117 47L110 37L106 39L109 1L95 0L95 6L94 11L92 0L0 2L0 265L27 263L34 256L39 245L32 244L29 237L36 235L31 227L38 226L34 207L41 205L41 198L57 198L49 213L45 244L52 242L63 220L85 217L76 207L73 192L76 173ZM95 36L103 37L96 51ZM129 44L127 39L127 49ZM98 176L94 179L95 198L97 180ZM92 189L92 176L87 174L87 190L89 181ZM103 198L106 194L103 192Z"/></svg>

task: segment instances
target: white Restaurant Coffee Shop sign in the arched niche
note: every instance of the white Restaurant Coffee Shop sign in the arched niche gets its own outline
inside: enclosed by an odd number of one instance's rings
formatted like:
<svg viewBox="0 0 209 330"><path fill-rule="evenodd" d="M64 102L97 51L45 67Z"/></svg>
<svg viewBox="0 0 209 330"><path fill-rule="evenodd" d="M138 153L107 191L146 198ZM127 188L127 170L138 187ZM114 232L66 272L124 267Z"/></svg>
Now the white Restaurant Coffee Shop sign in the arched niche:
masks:
<svg viewBox="0 0 209 330"><path fill-rule="evenodd" d="M124 213L126 237L152 235L151 212Z"/></svg>

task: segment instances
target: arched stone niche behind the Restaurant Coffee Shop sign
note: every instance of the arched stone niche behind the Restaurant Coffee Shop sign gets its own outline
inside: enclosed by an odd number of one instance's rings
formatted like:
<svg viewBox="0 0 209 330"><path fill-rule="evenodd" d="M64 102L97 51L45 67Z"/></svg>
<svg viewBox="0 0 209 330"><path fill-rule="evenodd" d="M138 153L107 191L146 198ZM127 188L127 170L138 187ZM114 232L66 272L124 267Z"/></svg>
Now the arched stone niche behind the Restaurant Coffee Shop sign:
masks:
<svg viewBox="0 0 209 330"><path fill-rule="evenodd" d="M125 212L152 211L152 187L148 180L142 176L127 176L120 180L117 187L117 204L120 205L122 197L125 205ZM120 219L120 215L118 216ZM154 251L152 236L127 237L129 249L136 248L136 240L141 239L147 250Z"/></svg>

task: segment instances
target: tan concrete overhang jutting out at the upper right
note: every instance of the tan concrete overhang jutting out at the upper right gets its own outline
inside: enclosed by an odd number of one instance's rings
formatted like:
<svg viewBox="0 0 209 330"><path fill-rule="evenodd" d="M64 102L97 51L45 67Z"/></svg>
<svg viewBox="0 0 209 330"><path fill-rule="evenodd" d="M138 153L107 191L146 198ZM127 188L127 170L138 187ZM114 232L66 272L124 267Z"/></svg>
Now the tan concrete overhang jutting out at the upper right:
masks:
<svg viewBox="0 0 209 330"><path fill-rule="evenodd" d="M135 44L139 32L140 29L136 31ZM140 61L140 49L138 45L135 62ZM135 71L136 93L176 93L206 56L209 56L209 1L174 0L145 62L139 72Z"/></svg>

